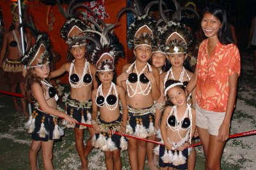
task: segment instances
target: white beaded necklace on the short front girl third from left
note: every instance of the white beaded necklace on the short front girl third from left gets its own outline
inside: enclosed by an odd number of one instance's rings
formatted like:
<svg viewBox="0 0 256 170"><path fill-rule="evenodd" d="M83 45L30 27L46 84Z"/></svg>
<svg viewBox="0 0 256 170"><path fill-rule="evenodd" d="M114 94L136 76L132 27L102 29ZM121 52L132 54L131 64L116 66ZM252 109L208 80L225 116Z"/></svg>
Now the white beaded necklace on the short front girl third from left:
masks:
<svg viewBox="0 0 256 170"><path fill-rule="evenodd" d="M107 97L109 96L110 92L112 92L112 89L114 89L114 91L115 91L115 96L116 96L116 103L114 104L114 106L113 106L113 105L109 105L108 102L106 101L106 99L107 99ZM102 92L102 84L100 84L100 86L99 86L99 88L98 88L98 90L97 90L97 96L96 96L96 98L95 98L95 101L97 101L97 97L99 97L99 96L103 96L103 97L104 97L103 92ZM97 104L97 102L96 102L96 104ZM118 106L118 93L117 93L117 90L116 90L116 85L115 85L115 83L111 82L111 85L110 85L109 90L108 90L108 94L107 94L106 97L104 97L104 103L102 103L102 104L103 104L103 105L97 104L97 106L99 106L100 108L102 108L103 106L106 105L107 108L108 108L108 110L115 110L116 107ZM113 107L113 108L111 108L111 107Z"/></svg>

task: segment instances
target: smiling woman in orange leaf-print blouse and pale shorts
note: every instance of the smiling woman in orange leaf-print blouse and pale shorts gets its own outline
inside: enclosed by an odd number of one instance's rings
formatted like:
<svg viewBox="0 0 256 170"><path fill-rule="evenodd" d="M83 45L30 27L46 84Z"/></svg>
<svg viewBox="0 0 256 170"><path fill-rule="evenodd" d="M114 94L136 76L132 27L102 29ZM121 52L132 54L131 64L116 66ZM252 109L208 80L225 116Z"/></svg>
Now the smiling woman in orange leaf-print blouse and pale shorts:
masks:
<svg viewBox="0 0 256 170"><path fill-rule="evenodd" d="M196 125L204 148L205 169L221 169L236 100L240 55L220 5L205 8L201 26L207 39L200 45L195 74L187 90L196 87Z"/></svg>

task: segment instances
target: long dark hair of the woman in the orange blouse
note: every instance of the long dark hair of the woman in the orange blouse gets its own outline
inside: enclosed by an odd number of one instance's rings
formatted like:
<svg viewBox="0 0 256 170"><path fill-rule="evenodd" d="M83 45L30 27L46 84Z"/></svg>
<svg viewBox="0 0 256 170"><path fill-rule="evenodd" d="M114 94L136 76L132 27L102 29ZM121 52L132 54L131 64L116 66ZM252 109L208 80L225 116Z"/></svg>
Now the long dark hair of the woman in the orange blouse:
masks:
<svg viewBox="0 0 256 170"><path fill-rule="evenodd" d="M221 22L221 27L218 32L218 39L221 44L228 45L234 43L231 38L230 29L227 20L227 14L224 8L218 4L208 4L204 9L205 13L211 13L214 17L218 18ZM204 15L203 15L204 16Z"/></svg>

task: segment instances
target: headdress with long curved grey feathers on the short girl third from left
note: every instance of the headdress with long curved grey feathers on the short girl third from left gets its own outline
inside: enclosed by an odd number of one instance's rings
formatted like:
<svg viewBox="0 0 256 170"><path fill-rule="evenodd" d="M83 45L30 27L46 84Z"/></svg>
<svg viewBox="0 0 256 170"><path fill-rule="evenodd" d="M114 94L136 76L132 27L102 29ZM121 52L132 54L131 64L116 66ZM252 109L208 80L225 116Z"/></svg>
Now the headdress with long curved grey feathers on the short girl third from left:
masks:
<svg viewBox="0 0 256 170"><path fill-rule="evenodd" d="M85 19L87 20L88 18ZM92 43L87 45L86 48L88 52L92 52L91 61L95 64L97 71L113 71L118 58L125 56L124 46L115 34L110 33L116 24L111 24L107 27L102 20L99 20L99 23L93 22L93 20L90 20L90 22L99 31L92 29L82 31L84 33L83 36L74 39L69 46L73 46L79 41L90 40Z"/></svg>

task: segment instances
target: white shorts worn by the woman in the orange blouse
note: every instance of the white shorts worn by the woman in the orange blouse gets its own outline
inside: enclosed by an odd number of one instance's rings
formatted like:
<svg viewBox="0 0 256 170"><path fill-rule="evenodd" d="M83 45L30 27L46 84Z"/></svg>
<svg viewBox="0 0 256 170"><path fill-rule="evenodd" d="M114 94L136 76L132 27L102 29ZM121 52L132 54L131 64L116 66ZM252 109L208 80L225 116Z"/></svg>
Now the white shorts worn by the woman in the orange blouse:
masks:
<svg viewBox="0 0 256 170"><path fill-rule="evenodd" d="M196 126L208 129L209 134L218 136L225 113L204 110L196 103Z"/></svg>

